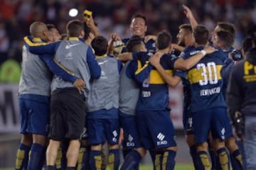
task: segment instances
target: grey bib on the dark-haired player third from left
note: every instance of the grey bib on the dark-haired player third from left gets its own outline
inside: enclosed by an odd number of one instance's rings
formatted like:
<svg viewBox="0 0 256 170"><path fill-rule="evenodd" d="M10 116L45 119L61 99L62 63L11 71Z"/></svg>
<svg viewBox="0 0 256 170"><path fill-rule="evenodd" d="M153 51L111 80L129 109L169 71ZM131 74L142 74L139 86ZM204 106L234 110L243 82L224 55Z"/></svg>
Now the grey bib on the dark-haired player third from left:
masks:
<svg viewBox="0 0 256 170"><path fill-rule="evenodd" d="M86 101L88 112L119 106L119 70L114 57L96 57L101 67L100 79L92 79L90 93Z"/></svg>

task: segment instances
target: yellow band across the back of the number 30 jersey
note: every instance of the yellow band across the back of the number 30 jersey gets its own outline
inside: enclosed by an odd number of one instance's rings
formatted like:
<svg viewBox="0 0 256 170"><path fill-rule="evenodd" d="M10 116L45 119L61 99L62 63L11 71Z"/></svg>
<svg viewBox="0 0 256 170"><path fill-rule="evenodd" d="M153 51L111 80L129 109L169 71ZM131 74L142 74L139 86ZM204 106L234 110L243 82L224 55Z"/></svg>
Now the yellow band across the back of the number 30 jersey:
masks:
<svg viewBox="0 0 256 170"><path fill-rule="evenodd" d="M216 81L222 79L220 76L220 69L222 65L214 65L214 67L208 66L205 64L201 65L202 67L193 68L188 71L188 81L190 84L199 83L199 81L207 82L207 81ZM204 84L206 85L206 84Z"/></svg>

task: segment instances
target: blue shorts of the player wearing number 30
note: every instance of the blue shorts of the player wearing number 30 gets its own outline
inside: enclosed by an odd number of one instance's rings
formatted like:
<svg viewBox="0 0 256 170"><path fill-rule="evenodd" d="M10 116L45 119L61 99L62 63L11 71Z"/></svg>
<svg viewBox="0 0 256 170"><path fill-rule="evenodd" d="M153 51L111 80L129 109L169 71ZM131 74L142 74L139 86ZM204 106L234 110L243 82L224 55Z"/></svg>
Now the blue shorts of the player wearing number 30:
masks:
<svg viewBox="0 0 256 170"><path fill-rule="evenodd" d="M209 132L213 139L225 140L225 128L228 115L226 108L210 108L209 110L192 113L193 133L196 143L208 140Z"/></svg>

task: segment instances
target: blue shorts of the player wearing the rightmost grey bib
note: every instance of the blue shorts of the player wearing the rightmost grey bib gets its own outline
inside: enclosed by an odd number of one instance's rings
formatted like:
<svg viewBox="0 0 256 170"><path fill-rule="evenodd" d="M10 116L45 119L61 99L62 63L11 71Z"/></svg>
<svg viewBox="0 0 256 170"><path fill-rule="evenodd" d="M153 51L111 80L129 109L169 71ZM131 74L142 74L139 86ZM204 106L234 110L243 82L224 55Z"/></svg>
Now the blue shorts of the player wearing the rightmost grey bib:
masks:
<svg viewBox="0 0 256 170"><path fill-rule="evenodd" d="M127 115L119 111L121 128L124 130L124 146L127 149L143 147L139 140L139 130L135 115Z"/></svg>

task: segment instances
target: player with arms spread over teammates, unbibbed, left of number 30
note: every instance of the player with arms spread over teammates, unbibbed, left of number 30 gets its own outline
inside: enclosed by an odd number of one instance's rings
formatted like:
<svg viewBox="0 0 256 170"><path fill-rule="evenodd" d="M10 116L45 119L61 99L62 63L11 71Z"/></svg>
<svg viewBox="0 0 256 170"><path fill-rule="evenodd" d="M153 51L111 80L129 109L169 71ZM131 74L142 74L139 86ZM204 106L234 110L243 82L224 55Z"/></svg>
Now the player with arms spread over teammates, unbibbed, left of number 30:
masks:
<svg viewBox="0 0 256 170"><path fill-rule="evenodd" d="M154 149L156 152L153 158L154 169L174 169L176 142L174 141L174 127L169 117L166 82L172 84L171 80L173 79L170 79L169 75L172 74L174 67L189 69L201 60L203 55L196 55L187 61L172 57L169 54L171 35L167 31L159 33L156 42L157 53L164 53L160 61L161 67L152 68L150 66L149 58L153 55L151 52L124 53L119 55L119 59L138 60L138 69L135 75L140 83L141 91L137 103L137 122L144 147L150 150ZM149 74L139 76L144 69L149 69Z"/></svg>

